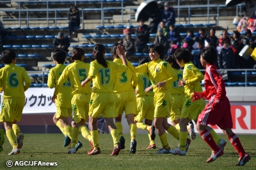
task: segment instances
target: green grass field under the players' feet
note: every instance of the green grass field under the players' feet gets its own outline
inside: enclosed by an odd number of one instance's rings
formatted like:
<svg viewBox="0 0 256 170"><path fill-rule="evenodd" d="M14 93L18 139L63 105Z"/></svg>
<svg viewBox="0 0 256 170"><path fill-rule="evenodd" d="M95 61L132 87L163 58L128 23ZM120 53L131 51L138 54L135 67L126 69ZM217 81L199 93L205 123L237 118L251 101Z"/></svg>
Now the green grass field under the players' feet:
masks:
<svg viewBox="0 0 256 170"><path fill-rule="evenodd" d="M76 154L67 153L68 148L63 147L62 134L25 134L24 146L19 155L8 155L12 150L8 139L3 144L4 151L0 153L0 169L10 169L6 166L7 160L38 160L42 162L58 162L58 166L38 167L19 166L15 169L256 169L256 135L239 135L244 149L250 154L252 160L244 167L234 167L237 164L239 155L227 138L225 154L216 161L206 163L211 155L211 149L205 144L200 135L189 146L186 156L180 157L172 154L155 154L156 150L146 150L148 146L148 135L137 135L136 154L129 154L129 135L124 135L126 139L125 150L115 157L109 157L113 150L111 135L100 134L100 155L87 155L90 150L89 142L79 135L79 141L83 147ZM178 145L178 141L168 135L171 148ZM157 149L161 148L161 141L156 137Z"/></svg>

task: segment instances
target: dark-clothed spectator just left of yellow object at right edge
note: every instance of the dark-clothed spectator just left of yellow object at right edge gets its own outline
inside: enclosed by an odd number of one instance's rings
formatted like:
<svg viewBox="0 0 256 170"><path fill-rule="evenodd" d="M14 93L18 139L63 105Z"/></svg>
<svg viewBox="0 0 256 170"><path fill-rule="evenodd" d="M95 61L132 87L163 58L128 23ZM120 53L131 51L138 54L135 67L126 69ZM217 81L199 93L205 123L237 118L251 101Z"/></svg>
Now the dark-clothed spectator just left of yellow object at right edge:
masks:
<svg viewBox="0 0 256 170"><path fill-rule="evenodd" d="M243 49L244 45L240 39L240 33L233 31L233 39L231 40L231 46L235 54L235 68L243 68L244 58L239 56L239 52Z"/></svg>

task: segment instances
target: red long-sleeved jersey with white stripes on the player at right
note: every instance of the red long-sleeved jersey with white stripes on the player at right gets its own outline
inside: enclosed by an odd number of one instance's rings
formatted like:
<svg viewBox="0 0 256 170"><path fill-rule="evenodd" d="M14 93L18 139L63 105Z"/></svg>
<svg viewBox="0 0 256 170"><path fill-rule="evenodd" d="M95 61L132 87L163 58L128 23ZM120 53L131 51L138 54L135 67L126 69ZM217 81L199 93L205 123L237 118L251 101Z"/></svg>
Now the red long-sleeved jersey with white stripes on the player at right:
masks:
<svg viewBox="0 0 256 170"><path fill-rule="evenodd" d="M225 82L215 65L206 66L204 87L205 91L202 92L202 96L205 99L209 100L214 95L214 100L222 100L226 96Z"/></svg>

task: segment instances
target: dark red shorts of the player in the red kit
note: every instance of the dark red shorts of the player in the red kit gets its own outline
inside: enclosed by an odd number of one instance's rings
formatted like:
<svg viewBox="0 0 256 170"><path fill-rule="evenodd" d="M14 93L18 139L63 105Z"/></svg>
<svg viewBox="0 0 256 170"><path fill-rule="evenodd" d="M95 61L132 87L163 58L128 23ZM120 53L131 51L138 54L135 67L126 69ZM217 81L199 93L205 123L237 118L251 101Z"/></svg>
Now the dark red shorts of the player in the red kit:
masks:
<svg viewBox="0 0 256 170"><path fill-rule="evenodd" d="M199 114L197 123L201 125L218 125L221 129L232 128L233 122L228 98L223 98L218 111L212 111L211 105L213 102L214 96L209 100L209 104L205 105L204 111Z"/></svg>

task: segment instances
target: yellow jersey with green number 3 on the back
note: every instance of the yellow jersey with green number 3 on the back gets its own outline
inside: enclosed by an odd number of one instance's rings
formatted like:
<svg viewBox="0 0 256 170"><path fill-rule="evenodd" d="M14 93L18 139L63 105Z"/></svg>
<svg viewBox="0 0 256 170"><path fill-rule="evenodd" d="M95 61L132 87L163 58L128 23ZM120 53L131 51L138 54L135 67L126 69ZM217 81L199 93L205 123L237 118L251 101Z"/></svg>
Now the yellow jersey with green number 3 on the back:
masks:
<svg viewBox="0 0 256 170"><path fill-rule="evenodd" d="M118 63L119 65L123 64L122 59L115 58L114 63ZM127 61L131 65L130 61ZM136 81L136 74L132 73L131 70L127 69L125 72L118 72L116 73L114 77L114 86L113 91L116 92L122 92L122 91L134 91L132 87L132 80Z"/></svg>

